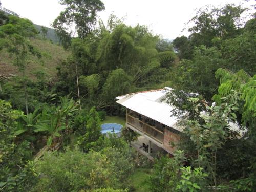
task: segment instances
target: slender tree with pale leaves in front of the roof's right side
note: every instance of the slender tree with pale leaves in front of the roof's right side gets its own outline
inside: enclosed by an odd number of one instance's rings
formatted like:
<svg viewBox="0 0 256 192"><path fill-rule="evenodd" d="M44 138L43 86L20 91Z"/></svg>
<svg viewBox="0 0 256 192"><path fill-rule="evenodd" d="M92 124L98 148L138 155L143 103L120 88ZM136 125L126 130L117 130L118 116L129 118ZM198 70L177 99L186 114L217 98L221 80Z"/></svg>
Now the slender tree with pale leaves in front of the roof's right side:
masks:
<svg viewBox="0 0 256 192"><path fill-rule="evenodd" d="M226 95L222 98L221 104L207 106L205 109L198 108L200 101L198 98L188 98L187 101L192 103L194 111L190 113L191 120L183 119L182 122L187 128L185 130L186 135L194 143L197 150L195 151L197 158L193 162L199 167L207 166L210 179L216 185L217 153L227 140L237 138L238 135L236 132L238 130L231 131L229 125L230 120L237 120L238 93ZM201 118L197 118L198 113ZM183 179L188 180L186 177ZM190 183L187 184L190 185Z"/></svg>

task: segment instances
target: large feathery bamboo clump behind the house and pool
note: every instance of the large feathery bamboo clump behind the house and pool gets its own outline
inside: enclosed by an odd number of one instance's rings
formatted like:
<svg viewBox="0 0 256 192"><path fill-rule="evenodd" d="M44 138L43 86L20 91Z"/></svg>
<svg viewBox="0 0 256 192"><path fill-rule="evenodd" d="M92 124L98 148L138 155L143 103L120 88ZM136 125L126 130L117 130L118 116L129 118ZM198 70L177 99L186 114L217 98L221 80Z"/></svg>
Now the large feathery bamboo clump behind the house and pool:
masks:
<svg viewBox="0 0 256 192"><path fill-rule="evenodd" d="M176 56L168 47L159 52L162 40L145 26L109 25L111 31L101 26L99 33L72 40L73 54L58 68L57 89L77 93L77 67L81 103L113 113L116 96L163 82Z"/></svg>

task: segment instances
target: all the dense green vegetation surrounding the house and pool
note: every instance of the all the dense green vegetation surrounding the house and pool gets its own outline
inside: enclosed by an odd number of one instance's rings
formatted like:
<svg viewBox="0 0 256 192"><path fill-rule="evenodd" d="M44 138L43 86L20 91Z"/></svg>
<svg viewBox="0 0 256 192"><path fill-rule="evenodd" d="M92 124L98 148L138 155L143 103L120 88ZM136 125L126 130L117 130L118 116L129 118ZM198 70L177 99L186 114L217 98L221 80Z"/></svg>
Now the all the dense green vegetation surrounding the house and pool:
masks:
<svg viewBox="0 0 256 192"><path fill-rule="evenodd" d="M71 54L52 78L28 75L31 59L53 60L32 44L47 41L48 29L0 12L0 48L19 71L0 74L1 191L256 188L255 14L245 22L242 6L200 9L189 37L169 42L115 15L96 26L100 0L60 3L67 7L53 26ZM165 85L184 132L173 158L151 166L130 147L137 133L106 137L100 125L105 115L124 117L115 97ZM135 165L148 168L143 187Z"/></svg>

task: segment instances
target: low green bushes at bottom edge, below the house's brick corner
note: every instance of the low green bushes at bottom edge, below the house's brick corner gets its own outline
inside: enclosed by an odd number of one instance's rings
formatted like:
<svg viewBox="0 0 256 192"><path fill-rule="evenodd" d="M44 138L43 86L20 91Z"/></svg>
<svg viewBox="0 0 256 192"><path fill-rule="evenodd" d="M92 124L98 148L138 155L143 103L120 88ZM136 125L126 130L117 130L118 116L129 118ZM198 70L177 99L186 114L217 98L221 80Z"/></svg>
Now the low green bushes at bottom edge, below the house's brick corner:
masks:
<svg viewBox="0 0 256 192"><path fill-rule="evenodd" d="M162 157L153 168L148 179L151 191L199 191L205 189L208 176L203 168L184 167L186 161L183 151L177 150L174 158Z"/></svg>

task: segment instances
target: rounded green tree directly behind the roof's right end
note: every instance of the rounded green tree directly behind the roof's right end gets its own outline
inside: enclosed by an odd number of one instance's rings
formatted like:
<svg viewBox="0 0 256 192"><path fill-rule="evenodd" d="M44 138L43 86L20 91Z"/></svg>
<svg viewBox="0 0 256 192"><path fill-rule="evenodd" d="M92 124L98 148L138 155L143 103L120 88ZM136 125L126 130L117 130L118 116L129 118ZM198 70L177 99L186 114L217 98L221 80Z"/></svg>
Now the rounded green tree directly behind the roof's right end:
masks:
<svg viewBox="0 0 256 192"><path fill-rule="evenodd" d="M211 99L218 89L215 71L223 65L225 65L225 60L215 47L196 47L191 60L184 59L173 69L174 87L200 93L205 98Z"/></svg>

